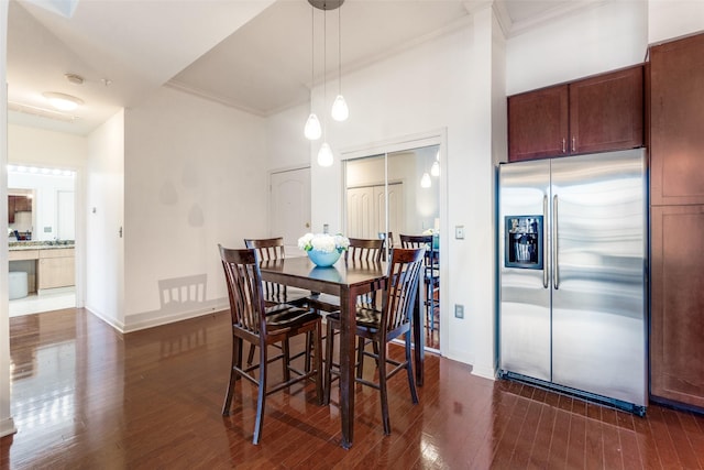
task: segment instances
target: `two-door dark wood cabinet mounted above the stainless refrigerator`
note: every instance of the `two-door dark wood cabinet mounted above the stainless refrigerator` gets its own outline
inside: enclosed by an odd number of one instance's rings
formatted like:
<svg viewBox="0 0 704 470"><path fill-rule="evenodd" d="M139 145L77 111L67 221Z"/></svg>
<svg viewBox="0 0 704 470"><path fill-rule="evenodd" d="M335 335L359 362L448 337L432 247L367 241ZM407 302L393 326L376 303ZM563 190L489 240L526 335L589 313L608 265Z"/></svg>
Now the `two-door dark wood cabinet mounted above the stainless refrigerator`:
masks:
<svg viewBox="0 0 704 470"><path fill-rule="evenodd" d="M644 67L508 98L508 161L644 144Z"/></svg>

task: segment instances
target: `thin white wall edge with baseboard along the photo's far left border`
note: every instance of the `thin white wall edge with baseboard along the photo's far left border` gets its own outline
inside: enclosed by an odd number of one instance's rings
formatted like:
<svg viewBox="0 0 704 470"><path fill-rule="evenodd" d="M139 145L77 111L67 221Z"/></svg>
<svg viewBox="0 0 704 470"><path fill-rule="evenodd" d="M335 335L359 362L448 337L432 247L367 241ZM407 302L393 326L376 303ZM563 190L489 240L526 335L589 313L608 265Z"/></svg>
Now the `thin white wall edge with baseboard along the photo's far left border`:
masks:
<svg viewBox="0 0 704 470"><path fill-rule="evenodd" d="M0 200L8 198L8 4L0 2ZM0 205L0 220L8 220L8 205ZM0 230L0 247L8 245L8 232ZM8 256L0 258L0 285L8 285ZM8 292L0 289L0 437L14 433L10 416L10 326Z"/></svg>

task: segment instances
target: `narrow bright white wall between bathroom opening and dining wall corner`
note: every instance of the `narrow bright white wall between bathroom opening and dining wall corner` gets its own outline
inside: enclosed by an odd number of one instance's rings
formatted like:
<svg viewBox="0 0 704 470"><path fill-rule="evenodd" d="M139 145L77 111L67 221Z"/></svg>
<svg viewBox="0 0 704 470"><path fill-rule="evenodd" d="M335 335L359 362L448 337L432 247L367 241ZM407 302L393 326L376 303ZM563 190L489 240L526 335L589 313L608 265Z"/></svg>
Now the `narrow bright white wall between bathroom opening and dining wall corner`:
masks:
<svg viewBox="0 0 704 470"><path fill-rule="evenodd" d="M124 111L88 136L86 177L86 308L124 327Z"/></svg>

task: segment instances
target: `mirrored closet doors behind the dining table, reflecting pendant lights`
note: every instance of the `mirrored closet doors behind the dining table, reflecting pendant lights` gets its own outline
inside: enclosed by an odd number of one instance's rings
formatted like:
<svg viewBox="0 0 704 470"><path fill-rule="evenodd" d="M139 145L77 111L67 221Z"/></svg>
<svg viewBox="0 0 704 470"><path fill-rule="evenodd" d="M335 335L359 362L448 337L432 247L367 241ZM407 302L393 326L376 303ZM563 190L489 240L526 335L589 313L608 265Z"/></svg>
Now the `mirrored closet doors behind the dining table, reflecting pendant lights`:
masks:
<svg viewBox="0 0 704 470"><path fill-rule="evenodd" d="M402 247L400 236L435 236L427 250L439 252L440 145L427 145L344 161L345 233L355 238L391 234L389 247ZM439 260L431 256L430 260ZM426 348L440 350L440 266L425 291Z"/></svg>

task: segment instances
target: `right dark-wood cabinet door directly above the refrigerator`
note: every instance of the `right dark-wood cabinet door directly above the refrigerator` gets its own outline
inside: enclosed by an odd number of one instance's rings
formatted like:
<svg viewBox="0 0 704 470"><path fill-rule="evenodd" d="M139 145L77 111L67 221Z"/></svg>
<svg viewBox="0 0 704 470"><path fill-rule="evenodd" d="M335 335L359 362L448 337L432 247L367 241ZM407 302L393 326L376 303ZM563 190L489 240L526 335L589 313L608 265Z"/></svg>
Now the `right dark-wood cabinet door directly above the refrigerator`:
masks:
<svg viewBox="0 0 704 470"><path fill-rule="evenodd" d="M570 153L642 146L642 70L639 65L570 84Z"/></svg>

